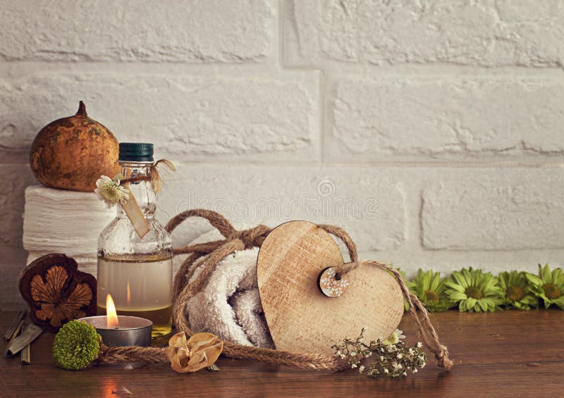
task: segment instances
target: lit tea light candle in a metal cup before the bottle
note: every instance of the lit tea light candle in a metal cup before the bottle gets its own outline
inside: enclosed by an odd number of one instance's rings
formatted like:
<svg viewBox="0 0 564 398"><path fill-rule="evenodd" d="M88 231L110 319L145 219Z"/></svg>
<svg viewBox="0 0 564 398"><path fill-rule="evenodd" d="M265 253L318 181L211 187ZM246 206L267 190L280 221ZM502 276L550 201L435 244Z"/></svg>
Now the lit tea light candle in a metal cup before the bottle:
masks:
<svg viewBox="0 0 564 398"><path fill-rule="evenodd" d="M118 316L114 300L109 294L106 297L106 316L88 316L80 318L79 321L85 321L94 326L102 336L102 342L107 346L149 347L151 345L153 323L137 316Z"/></svg>

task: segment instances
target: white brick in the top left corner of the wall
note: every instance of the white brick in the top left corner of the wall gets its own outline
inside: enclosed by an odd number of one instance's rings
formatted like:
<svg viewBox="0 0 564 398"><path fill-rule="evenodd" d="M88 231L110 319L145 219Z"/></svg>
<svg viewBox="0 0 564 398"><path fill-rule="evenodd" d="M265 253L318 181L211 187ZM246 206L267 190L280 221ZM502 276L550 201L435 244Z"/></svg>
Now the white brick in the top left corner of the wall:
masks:
<svg viewBox="0 0 564 398"><path fill-rule="evenodd" d="M6 61L262 62L274 39L266 0L1 3Z"/></svg>

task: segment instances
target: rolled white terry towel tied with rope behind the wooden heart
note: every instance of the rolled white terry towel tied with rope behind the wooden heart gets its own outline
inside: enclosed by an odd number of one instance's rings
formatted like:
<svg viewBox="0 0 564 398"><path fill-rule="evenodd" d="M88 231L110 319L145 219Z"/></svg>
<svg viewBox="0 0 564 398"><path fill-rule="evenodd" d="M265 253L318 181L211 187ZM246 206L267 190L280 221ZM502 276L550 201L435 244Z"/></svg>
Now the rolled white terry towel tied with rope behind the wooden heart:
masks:
<svg viewBox="0 0 564 398"><path fill-rule="evenodd" d="M207 232L192 242L219 240L216 230ZM257 286L257 256L259 249L236 251L220 261L204 289L186 304L186 314L194 332L210 332L223 340L249 346L274 348L270 337ZM202 270L202 259L190 282Z"/></svg>

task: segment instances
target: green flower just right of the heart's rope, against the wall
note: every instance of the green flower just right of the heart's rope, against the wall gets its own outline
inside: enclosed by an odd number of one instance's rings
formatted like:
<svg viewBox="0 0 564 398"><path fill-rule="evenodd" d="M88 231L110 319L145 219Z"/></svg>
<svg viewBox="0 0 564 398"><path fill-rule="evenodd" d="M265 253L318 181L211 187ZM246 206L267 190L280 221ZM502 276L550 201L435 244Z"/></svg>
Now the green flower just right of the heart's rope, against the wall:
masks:
<svg viewBox="0 0 564 398"><path fill-rule="evenodd" d="M417 294L419 300L421 300L430 311L446 311L450 307L455 306L445 292L446 280L446 278L441 278L441 273L433 273L432 270L423 272L423 270L419 268L417 277L414 282L412 282L410 290L412 293Z"/></svg>

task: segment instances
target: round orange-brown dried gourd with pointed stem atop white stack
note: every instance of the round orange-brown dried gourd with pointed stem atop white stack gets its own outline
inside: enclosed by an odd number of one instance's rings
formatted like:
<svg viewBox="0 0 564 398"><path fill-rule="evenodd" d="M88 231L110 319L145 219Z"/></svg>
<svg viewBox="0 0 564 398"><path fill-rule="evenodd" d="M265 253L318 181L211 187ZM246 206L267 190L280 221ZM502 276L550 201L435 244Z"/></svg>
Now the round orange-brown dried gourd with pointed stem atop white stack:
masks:
<svg viewBox="0 0 564 398"><path fill-rule="evenodd" d="M30 149L30 165L47 187L92 192L100 175L114 177L119 143L104 125L86 114L80 101L75 116L49 123L39 131Z"/></svg>

